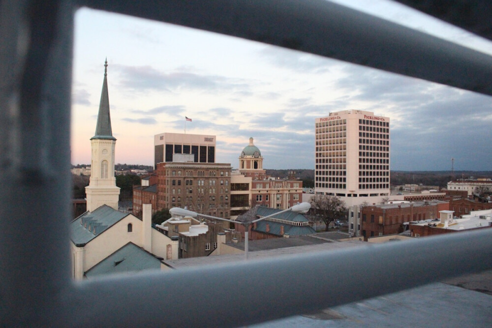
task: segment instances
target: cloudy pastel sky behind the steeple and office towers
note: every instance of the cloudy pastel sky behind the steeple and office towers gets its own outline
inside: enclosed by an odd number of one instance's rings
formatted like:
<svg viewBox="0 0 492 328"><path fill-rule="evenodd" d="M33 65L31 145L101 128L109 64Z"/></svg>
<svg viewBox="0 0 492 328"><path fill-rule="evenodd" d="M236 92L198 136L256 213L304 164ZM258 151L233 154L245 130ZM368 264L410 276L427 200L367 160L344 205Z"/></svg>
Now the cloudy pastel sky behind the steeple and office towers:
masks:
<svg viewBox="0 0 492 328"><path fill-rule="evenodd" d="M387 0L338 0L492 54L492 42ZM153 165L154 135L216 135L238 167L249 137L266 169L314 168L314 119L391 119L391 170L491 170L489 96L258 42L82 8L75 15L72 164L91 162L104 60L116 163Z"/></svg>

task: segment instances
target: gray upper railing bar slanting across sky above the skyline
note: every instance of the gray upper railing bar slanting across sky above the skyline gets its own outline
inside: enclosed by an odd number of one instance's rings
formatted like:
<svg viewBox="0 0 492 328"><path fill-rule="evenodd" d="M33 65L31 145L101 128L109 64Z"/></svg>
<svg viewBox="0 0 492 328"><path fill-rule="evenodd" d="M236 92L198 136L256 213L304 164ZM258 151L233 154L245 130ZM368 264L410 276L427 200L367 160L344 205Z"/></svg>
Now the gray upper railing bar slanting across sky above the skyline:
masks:
<svg viewBox="0 0 492 328"><path fill-rule="evenodd" d="M78 0L492 95L486 54L325 0Z"/></svg>

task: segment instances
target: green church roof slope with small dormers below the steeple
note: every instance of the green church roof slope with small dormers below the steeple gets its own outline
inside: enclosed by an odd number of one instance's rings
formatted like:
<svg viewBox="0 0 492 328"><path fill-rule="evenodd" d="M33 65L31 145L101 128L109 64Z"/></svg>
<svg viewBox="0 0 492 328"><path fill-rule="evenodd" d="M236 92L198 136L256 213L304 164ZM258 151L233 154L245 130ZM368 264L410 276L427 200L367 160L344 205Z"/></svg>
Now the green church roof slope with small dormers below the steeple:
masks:
<svg viewBox="0 0 492 328"><path fill-rule="evenodd" d="M128 215L107 205L85 212L70 223L70 239L76 246L84 246Z"/></svg>

